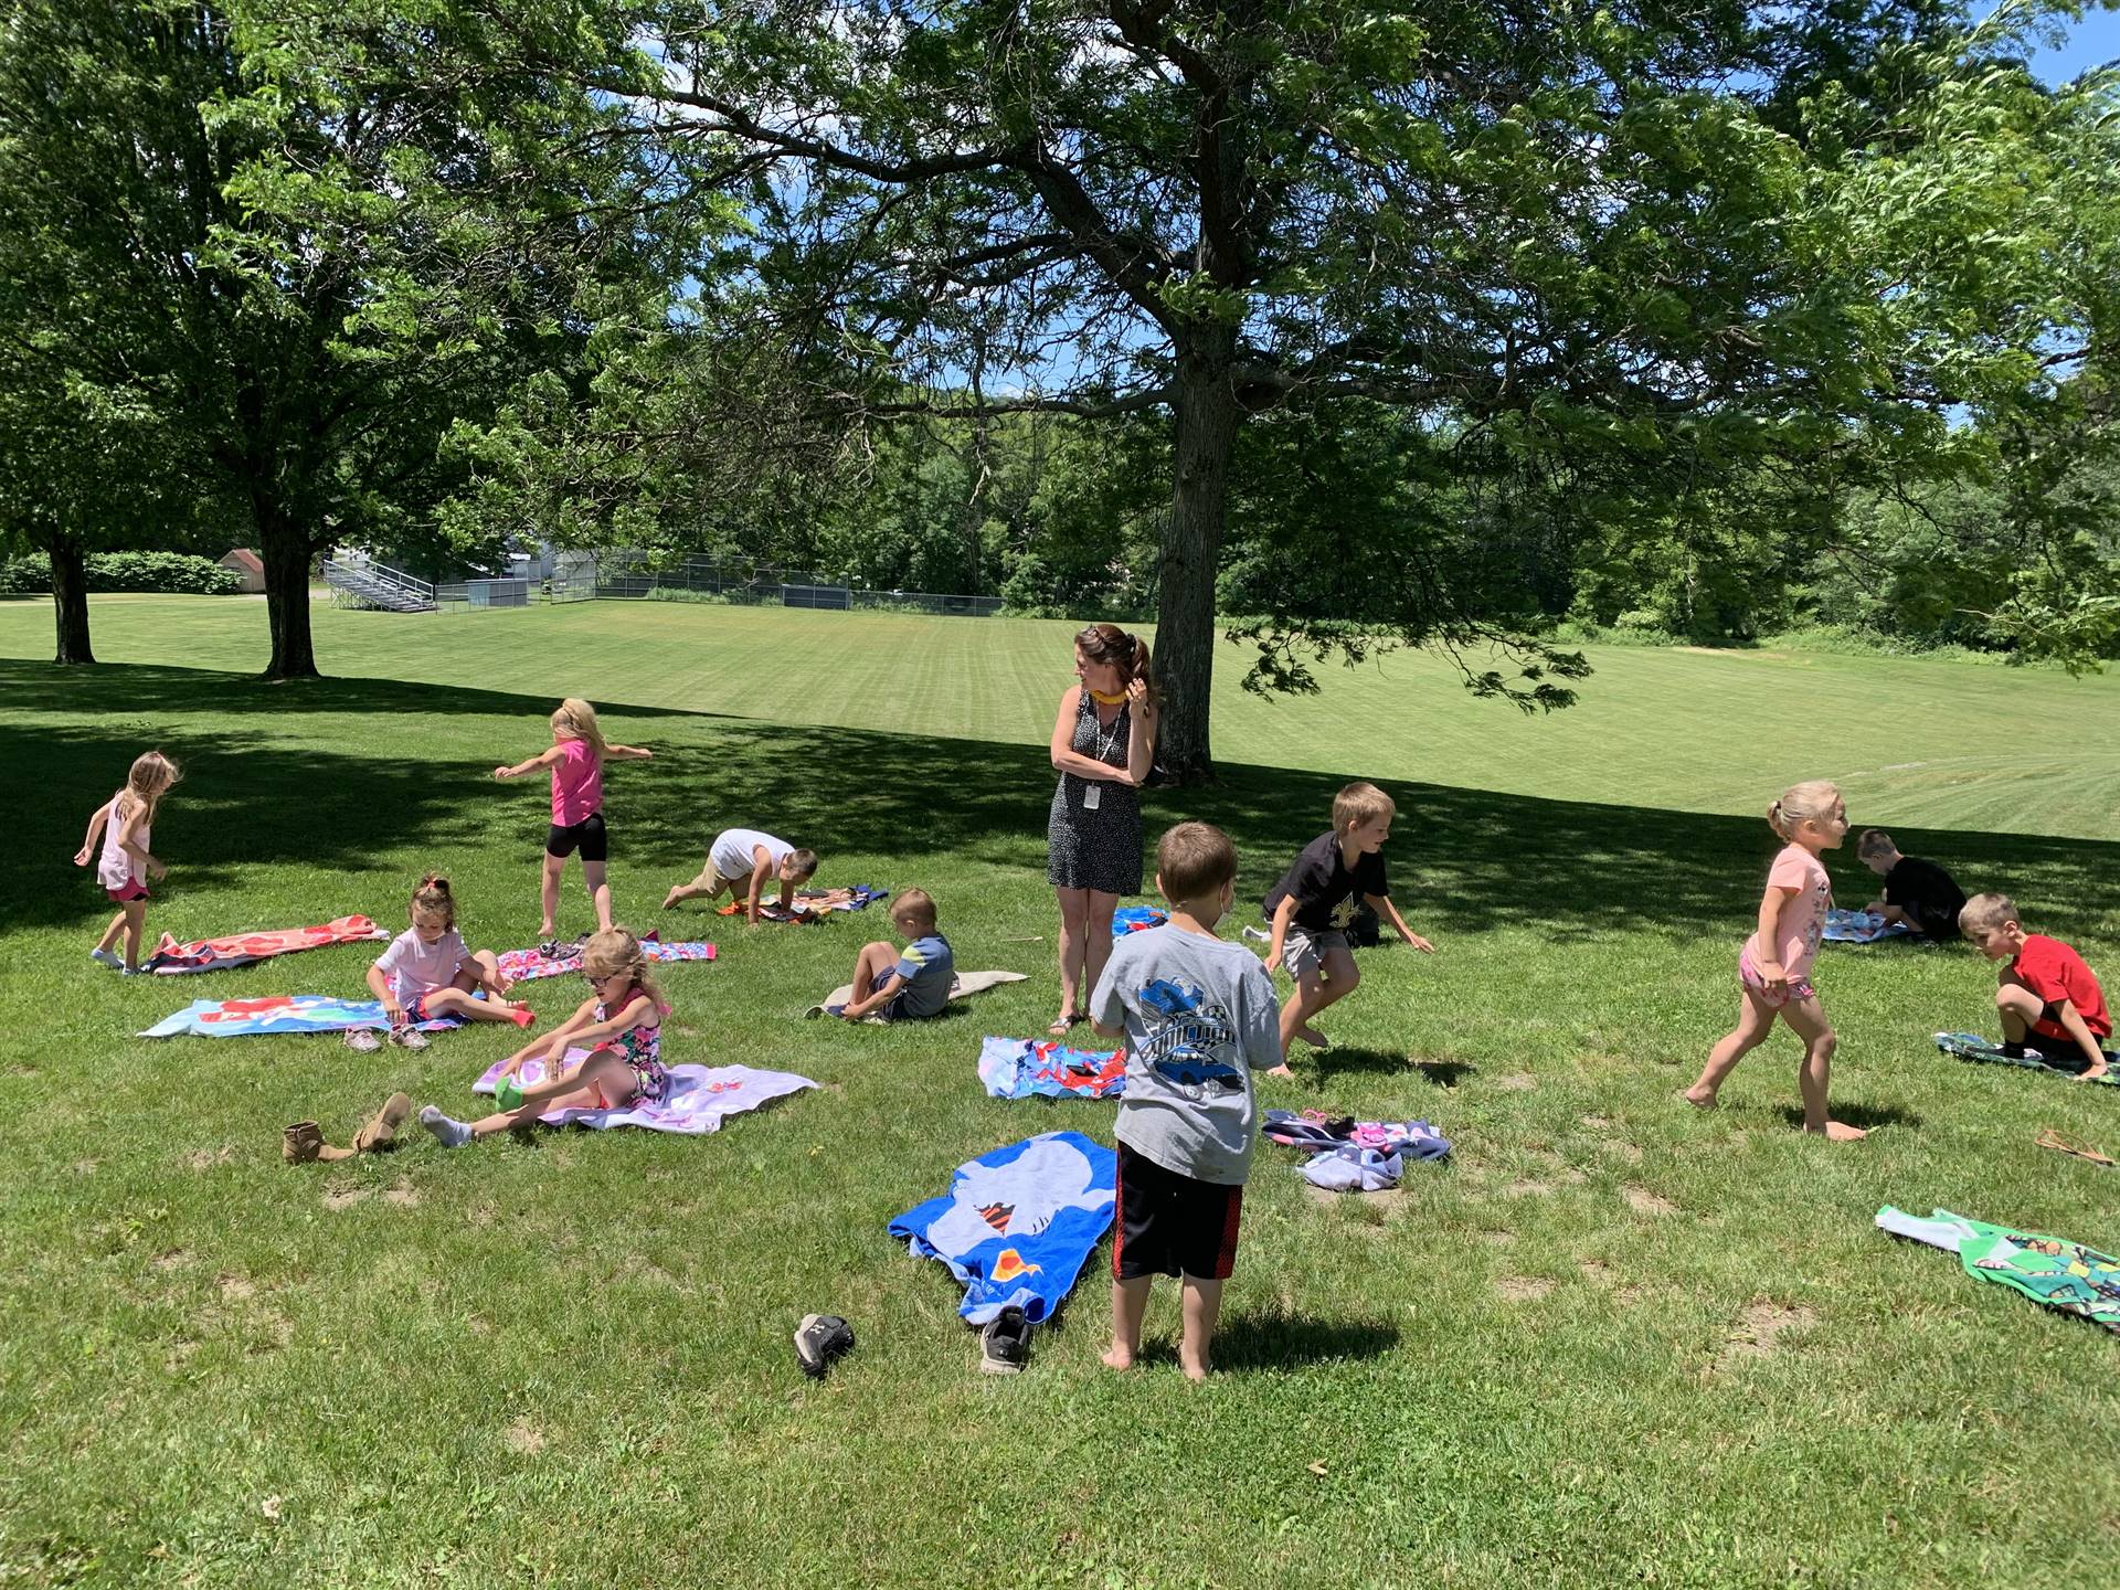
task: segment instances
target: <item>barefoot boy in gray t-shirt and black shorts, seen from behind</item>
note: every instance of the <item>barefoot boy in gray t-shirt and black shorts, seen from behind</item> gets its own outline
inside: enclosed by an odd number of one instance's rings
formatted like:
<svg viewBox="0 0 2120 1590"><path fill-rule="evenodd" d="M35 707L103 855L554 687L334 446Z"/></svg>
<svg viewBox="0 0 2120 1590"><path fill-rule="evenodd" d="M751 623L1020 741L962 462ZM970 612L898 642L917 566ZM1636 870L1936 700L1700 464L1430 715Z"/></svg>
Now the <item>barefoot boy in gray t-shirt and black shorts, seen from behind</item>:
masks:
<svg viewBox="0 0 2120 1590"><path fill-rule="evenodd" d="M1105 1363L1132 1367L1149 1287L1183 1276L1179 1363L1202 1380L1251 1174L1251 1073L1280 1064L1280 1005L1259 958L1215 937L1236 890L1227 833L1206 823L1164 833L1155 886L1170 920L1119 939L1090 996L1096 1030L1126 1039Z"/></svg>

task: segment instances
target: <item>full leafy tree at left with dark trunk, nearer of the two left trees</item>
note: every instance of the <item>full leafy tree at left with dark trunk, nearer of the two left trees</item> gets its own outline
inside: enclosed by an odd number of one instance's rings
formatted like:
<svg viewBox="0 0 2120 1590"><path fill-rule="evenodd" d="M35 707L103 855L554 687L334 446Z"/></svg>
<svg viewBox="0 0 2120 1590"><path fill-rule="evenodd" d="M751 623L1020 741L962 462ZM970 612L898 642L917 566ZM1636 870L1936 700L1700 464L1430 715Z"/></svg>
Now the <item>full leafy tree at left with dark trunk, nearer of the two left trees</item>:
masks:
<svg viewBox="0 0 2120 1590"><path fill-rule="evenodd" d="M248 526L271 676L316 672L316 553L426 522L452 428L659 305L714 212L681 159L602 136L581 81L621 32L575 6L507 32L568 70L515 70L447 0L0 0L28 375L153 413L165 477Z"/></svg>

